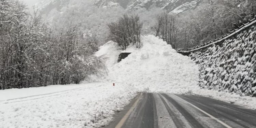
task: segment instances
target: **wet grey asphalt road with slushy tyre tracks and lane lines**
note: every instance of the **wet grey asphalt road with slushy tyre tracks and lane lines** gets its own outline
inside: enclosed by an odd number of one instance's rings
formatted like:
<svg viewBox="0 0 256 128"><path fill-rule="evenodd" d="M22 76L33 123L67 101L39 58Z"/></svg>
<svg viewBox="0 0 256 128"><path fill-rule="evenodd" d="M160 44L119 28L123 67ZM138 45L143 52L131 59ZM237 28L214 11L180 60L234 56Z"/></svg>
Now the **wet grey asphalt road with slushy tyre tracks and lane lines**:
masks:
<svg viewBox="0 0 256 128"><path fill-rule="evenodd" d="M140 94L106 128L256 128L256 111L206 97Z"/></svg>

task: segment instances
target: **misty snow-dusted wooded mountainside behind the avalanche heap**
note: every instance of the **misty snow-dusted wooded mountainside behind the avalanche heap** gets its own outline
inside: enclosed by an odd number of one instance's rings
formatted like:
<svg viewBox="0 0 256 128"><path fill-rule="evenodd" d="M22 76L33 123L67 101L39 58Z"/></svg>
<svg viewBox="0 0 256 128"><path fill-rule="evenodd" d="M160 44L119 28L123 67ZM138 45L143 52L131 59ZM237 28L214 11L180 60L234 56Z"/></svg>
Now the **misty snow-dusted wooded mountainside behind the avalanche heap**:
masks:
<svg viewBox="0 0 256 128"><path fill-rule="evenodd" d="M177 49L221 37L254 18L256 12L254 0L59 1L43 4L43 9L51 10L44 13L44 19L54 27L63 23L77 24L86 36L97 36L99 45L110 40L107 24L123 14L138 14L143 22L142 34L158 35L168 44L175 42L173 45ZM52 9L53 4L59 6ZM164 22L163 12L168 14L165 26L161 25ZM165 37L159 35L161 28L167 28L166 32L162 31ZM168 41L168 37L172 41Z"/></svg>

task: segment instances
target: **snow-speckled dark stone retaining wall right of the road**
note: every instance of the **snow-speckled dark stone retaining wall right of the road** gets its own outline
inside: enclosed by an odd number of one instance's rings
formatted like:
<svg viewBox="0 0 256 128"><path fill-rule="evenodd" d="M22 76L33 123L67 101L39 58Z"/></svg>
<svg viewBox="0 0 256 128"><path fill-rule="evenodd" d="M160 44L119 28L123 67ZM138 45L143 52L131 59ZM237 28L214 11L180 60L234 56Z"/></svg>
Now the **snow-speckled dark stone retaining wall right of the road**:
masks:
<svg viewBox="0 0 256 128"><path fill-rule="evenodd" d="M256 24L233 39L190 54L200 70L200 86L256 96Z"/></svg>

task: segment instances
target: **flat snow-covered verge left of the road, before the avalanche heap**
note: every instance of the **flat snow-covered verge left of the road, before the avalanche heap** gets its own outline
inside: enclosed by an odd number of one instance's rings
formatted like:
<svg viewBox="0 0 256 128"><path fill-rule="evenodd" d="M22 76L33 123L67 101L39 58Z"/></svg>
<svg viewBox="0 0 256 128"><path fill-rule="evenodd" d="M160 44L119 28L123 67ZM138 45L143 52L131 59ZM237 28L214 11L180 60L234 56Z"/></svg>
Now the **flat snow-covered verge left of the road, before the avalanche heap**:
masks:
<svg viewBox="0 0 256 128"><path fill-rule="evenodd" d="M91 128L110 122L136 96L127 85L112 83L81 84L80 89L56 95L0 101L0 128ZM71 86L69 86L72 88ZM52 89L52 87L45 87ZM56 90L61 90L56 86ZM40 88L25 88L27 90ZM5 90L3 90L5 91ZM9 92L11 92L10 90ZM15 95L15 91L12 92ZM33 99L31 99L33 98Z"/></svg>

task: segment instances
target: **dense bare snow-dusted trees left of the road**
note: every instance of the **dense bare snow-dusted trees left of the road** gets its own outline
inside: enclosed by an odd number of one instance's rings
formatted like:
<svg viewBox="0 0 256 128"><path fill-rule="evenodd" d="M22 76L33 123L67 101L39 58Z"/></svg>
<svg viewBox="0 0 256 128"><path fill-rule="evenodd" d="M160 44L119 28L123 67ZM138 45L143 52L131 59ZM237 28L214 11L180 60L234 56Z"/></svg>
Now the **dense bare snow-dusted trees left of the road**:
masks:
<svg viewBox="0 0 256 128"><path fill-rule="evenodd" d="M0 1L0 30L0 89L77 84L103 67L80 27L53 29L18 0Z"/></svg>

